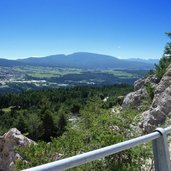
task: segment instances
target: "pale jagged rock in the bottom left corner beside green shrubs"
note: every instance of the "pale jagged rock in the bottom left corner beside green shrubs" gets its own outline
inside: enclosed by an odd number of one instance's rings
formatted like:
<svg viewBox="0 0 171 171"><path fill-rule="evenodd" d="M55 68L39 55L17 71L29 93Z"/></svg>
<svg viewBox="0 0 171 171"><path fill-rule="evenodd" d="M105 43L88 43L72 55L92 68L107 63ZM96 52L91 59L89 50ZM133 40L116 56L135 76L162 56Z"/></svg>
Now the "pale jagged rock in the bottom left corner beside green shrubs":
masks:
<svg viewBox="0 0 171 171"><path fill-rule="evenodd" d="M21 156L15 152L15 148L25 146L34 141L25 137L16 128L10 129L0 137L0 170L15 171L15 161Z"/></svg>

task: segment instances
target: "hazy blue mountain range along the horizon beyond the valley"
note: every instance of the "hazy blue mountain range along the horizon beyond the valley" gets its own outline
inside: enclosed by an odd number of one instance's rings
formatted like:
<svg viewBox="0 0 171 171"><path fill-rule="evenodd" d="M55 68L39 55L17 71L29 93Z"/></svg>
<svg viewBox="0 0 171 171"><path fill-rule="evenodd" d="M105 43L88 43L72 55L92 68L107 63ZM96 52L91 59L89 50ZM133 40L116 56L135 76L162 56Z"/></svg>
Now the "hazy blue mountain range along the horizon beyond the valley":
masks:
<svg viewBox="0 0 171 171"><path fill-rule="evenodd" d="M82 69L139 69L149 70L156 61L141 59L119 59L116 57L87 52L77 52L70 55L51 55L46 57L29 57L25 59L8 60L0 58L0 66L48 66Z"/></svg>

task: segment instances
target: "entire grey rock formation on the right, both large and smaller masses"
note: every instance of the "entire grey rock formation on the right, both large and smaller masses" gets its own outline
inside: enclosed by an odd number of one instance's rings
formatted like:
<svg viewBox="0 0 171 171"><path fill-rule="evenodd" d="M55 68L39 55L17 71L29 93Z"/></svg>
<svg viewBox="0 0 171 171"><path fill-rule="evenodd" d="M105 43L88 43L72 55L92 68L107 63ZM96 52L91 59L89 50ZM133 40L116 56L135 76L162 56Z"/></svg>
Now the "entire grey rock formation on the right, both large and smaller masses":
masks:
<svg viewBox="0 0 171 171"><path fill-rule="evenodd" d="M149 110L142 113L139 123L140 128L145 133L153 131L157 126L163 124L167 118L171 118L171 64L160 82L154 75L144 80L137 80L134 83L134 92L125 97L122 107L133 106L139 108L142 99L149 98L146 90L148 84L154 88L154 98Z"/></svg>

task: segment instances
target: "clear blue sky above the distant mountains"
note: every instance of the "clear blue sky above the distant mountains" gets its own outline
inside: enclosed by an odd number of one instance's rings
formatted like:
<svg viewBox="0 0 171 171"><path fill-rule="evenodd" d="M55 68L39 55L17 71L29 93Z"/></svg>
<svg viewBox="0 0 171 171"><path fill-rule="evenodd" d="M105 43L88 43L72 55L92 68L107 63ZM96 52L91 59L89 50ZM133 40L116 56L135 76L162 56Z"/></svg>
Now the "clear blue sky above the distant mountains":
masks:
<svg viewBox="0 0 171 171"><path fill-rule="evenodd" d="M0 58L94 52L160 58L170 0L0 0Z"/></svg>

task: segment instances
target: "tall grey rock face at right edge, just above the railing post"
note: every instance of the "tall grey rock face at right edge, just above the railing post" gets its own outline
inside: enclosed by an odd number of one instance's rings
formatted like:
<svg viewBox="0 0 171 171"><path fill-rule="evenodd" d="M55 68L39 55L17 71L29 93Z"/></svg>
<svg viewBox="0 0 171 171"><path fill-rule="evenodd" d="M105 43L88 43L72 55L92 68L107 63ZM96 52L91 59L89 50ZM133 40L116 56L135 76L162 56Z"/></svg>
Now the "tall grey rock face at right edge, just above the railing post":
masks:
<svg viewBox="0 0 171 171"><path fill-rule="evenodd" d="M143 112L140 127L144 132L151 132L159 124L171 117L171 65L155 88L152 105Z"/></svg>

